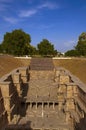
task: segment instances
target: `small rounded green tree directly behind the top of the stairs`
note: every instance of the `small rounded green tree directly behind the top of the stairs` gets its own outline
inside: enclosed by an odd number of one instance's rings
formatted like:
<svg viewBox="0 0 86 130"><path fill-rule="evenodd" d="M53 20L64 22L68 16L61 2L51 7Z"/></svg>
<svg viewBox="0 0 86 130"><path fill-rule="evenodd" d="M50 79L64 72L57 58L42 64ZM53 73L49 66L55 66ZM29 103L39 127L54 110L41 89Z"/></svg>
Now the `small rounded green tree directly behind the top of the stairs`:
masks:
<svg viewBox="0 0 86 130"><path fill-rule="evenodd" d="M39 54L42 56L53 56L57 54L57 50L54 50L54 45L51 44L47 39L43 39L37 44Z"/></svg>

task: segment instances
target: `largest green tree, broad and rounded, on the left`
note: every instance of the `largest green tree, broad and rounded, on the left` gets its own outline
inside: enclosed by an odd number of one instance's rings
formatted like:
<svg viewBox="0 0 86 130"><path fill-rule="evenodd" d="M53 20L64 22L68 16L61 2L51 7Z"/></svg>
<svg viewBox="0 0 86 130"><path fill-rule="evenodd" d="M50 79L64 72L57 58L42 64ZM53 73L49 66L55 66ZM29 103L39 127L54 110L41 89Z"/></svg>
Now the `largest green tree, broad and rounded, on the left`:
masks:
<svg viewBox="0 0 86 130"><path fill-rule="evenodd" d="M28 55L31 37L21 29L7 32L2 42L3 52L12 55Z"/></svg>

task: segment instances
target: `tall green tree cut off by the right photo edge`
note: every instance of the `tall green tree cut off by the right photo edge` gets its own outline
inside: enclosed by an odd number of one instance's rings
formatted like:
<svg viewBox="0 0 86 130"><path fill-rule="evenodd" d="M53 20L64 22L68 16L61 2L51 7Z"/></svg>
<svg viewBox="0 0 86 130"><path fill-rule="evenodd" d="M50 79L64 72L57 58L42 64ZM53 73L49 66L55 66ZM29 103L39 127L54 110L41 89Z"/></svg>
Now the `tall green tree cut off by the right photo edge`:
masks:
<svg viewBox="0 0 86 130"><path fill-rule="evenodd" d="M86 32L83 32L78 39L78 43L75 47L80 56L86 56Z"/></svg>

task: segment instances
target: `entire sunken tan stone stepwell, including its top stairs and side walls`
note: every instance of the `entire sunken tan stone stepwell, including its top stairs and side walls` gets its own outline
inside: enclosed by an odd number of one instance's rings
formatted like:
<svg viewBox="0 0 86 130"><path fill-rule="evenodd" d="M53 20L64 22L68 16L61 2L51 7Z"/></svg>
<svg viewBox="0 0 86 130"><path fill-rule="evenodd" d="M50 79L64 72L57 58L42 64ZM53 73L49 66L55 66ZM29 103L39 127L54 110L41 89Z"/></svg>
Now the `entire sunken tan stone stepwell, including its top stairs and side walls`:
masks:
<svg viewBox="0 0 86 130"><path fill-rule="evenodd" d="M86 85L52 59L0 79L0 130L86 130Z"/></svg>

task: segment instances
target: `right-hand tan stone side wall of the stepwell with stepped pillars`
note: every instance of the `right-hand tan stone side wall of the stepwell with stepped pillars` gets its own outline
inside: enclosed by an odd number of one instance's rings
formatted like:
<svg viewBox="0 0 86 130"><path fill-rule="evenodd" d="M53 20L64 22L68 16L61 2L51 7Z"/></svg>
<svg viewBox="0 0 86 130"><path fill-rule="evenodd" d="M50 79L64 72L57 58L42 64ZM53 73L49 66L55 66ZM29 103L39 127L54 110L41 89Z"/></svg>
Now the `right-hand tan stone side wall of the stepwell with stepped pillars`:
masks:
<svg viewBox="0 0 86 130"><path fill-rule="evenodd" d="M59 95L64 102L67 122L75 130L86 129L86 85L64 68L56 68L55 82L59 83ZM58 97L59 97L58 95Z"/></svg>

